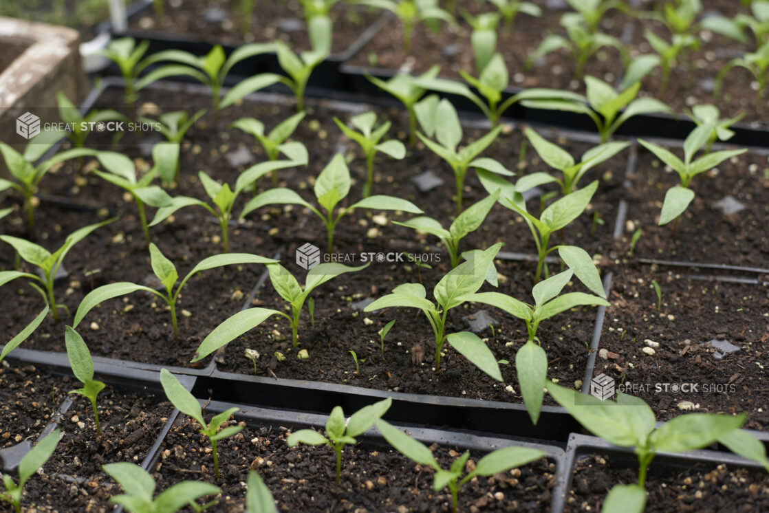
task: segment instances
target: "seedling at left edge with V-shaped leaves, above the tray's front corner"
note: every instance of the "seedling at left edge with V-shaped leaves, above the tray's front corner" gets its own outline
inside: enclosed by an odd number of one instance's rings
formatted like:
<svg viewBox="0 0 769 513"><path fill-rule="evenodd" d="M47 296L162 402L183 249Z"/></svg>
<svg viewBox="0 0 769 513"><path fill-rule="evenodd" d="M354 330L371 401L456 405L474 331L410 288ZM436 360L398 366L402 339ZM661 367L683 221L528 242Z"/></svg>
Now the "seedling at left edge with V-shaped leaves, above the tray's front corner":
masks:
<svg viewBox="0 0 769 513"><path fill-rule="evenodd" d="M108 219L95 225L88 225L79 230L75 230L65 239L64 244L58 248L55 252L48 252L47 249L35 244L34 242L25 241L23 238L12 237L11 235L0 235L0 241L6 242L18 252L18 255L31 265L37 266L42 271L42 278L38 275L33 275L28 272L18 271L3 271L0 273L0 285L11 281L15 278L29 278L30 280L38 281L45 288L45 294L35 285L30 282L30 285L38 289L41 294L47 296L48 306L51 307L53 312L53 319L58 322L58 308L65 308L65 305L57 305L56 298L53 294L53 283L56 278L58 269L62 266L64 258L67 256L72 247L78 242L86 238L96 228L101 228L104 225L108 225L111 222L117 221L117 218ZM14 273L14 274L8 274ZM5 275L5 276L3 276Z"/></svg>

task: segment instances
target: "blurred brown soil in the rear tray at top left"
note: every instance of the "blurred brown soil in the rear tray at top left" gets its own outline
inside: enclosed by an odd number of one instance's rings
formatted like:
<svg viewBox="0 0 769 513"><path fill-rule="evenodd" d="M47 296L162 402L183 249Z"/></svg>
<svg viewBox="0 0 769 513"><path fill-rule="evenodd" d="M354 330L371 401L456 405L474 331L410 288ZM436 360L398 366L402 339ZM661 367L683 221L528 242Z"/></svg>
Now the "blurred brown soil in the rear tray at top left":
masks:
<svg viewBox="0 0 769 513"><path fill-rule="evenodd" d="M130 28L169 35L202 37L209 42L239 45L243 42L272 42L280 40L291 45L296 52L310 49L305 24L305 12L298 0L288 2L252 2L254 10L245 15L243 2L218 0L217 2L181 2L165 0L165 15L161 20L150 8L129 21ZM246 18L248 31L243 32ZM345 52L361 33L378 17L378 12L358 7L338 5L331 11L334 22L332 53Z"/></svg>

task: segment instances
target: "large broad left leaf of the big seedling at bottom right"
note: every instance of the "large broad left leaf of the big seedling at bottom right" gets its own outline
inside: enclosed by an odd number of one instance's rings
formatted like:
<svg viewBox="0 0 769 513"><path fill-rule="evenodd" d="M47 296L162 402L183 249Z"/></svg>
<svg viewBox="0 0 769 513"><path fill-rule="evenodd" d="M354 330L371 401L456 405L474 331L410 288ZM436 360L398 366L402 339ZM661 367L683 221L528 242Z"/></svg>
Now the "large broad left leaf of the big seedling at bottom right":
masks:
<svg viewBox="0 0 769 513"><path fill-rule="evenodd" d="M641 400L618 405L554 383L548 382L547 386L552 398L585 429L610 444L620 447L643 445L654 428L654 412ZM623 395L620 392L618 398ZM646 435L639 436L645 430Z"/></svg>

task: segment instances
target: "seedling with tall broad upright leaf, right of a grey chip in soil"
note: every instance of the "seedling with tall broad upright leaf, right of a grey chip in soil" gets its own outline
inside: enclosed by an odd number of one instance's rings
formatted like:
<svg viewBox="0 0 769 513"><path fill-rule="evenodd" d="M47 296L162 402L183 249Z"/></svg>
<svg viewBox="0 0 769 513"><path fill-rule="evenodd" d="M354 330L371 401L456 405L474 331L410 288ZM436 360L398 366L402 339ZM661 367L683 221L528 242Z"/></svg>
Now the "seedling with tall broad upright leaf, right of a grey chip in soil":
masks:
<svg viewBox="0 0 769 513"><path fill-rule="evenodd" d="M477 158L498 138L502 130L501 125L491 128L488 134L458 149L464 133L457 111L451 102L445 98L438 100L437 95L429 95L415 106L415 110L419 125L425 134L417 132L421 142L430 148L431 152L447 162L451 166L451 171L454 172L457 215L462 212L462 190L468 168L480 168L498 175L513 175L493 158ZM435 138L435 141L431 140L432 137Z"/></svg>

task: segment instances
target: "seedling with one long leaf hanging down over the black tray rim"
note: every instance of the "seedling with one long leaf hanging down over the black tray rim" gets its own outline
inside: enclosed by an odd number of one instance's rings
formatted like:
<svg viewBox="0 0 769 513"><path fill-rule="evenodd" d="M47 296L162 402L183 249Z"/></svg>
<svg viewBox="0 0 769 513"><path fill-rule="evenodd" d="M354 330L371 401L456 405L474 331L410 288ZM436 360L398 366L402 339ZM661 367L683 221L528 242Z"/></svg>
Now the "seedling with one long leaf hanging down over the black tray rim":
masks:
<svg viewBox="0 0 769 513"><path fill-rule="evenodd" d="M524 404L534 424L537 424L539 419L544 398L541 383L548 374L548 357L537 337L541 321L578 306L609 306L598 270L588 253L576 246L564 246L561 250L561 257L571 268L534 285L531 291L531 295L534 296L534 305L528 305L501 292L476 292L460 298L461 301L474 301L494 306L526 323L528 341L518 349L515 355L515 369ZM584 292L568 292L560 295L574 275L578 275L580 281L598 295ZM477 335L468 333L468 337L470 336L478 338Z"/></svg>

